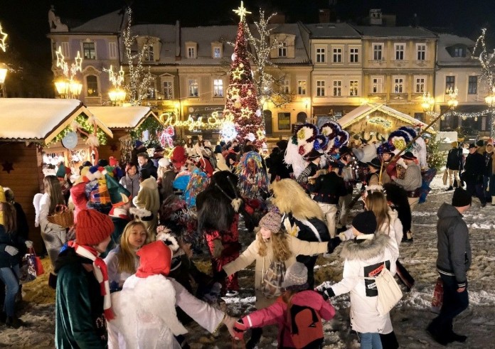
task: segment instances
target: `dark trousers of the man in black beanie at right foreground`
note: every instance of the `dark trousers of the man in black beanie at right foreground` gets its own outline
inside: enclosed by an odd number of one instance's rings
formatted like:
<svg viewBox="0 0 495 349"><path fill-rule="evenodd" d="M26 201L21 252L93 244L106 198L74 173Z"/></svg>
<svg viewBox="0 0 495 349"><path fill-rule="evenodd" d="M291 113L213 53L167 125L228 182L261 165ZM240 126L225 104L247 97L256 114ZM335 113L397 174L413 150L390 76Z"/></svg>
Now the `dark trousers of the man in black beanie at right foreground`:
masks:
<svg viewBox="0 0 495 349"><path fill-rule="evenodd" d="M454 318L467 309L469 297L467 287L462 292L457 292L455 276L440 274L444 283L444 299L440 315L433 319L430 326L438 335L445 336L452 333Z"/></svg>

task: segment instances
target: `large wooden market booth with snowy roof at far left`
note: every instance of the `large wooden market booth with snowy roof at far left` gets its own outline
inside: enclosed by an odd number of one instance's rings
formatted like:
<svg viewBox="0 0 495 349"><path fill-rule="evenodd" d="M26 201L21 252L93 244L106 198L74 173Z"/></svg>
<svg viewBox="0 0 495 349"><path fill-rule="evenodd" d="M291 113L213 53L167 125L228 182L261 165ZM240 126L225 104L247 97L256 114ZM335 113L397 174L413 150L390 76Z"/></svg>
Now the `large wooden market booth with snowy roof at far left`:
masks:
<svg viewBox="0 0 495 349"><path fill-rule="evenodd" d="M43 193L45 174L55 174L61 161L78 173L82 161L96 160L97 144L107 136L112 131L79 100L0 99L0 186L11 188L25 211L37 251L42 241L33 197Z"/></svg>

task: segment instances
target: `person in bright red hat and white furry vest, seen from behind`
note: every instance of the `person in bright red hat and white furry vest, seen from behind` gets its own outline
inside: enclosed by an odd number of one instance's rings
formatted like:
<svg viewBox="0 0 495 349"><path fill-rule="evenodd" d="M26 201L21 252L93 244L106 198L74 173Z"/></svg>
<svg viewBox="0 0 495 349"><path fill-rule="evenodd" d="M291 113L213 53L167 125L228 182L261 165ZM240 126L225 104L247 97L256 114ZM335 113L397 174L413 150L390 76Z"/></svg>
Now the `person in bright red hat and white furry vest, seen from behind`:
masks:
<svg viewBox="0 0 495 349"><path fill-rule="evenodd" d="M137 252L139 268L112 294L115 321L109 323L109 348L181 348L177 337L187 333L176 306L211 333L223 323L233 335L235 319L190 294L169 279L172 252L162 241ZM139 336L136 335L139 333Z"/></svg>

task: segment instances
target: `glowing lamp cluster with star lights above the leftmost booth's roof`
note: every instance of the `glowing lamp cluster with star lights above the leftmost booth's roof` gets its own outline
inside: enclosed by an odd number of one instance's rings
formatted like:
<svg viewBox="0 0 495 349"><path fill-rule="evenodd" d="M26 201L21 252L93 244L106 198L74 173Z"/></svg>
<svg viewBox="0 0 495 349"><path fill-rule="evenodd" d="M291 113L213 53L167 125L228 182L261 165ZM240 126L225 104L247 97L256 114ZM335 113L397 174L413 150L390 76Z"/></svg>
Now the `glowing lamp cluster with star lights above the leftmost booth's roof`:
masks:
<svg viewBox="0 0 495 349"><path fill-rule="evenodd" d="M55 88L62 98L78 98L82 90L82 84L78 80L75 80L74 77L76 73L82 71L81 53L78 51L78 55L70 67L64 60L61 46L58 46L56 54L57 67L62 68L63 77L55 81Z"/></svg>

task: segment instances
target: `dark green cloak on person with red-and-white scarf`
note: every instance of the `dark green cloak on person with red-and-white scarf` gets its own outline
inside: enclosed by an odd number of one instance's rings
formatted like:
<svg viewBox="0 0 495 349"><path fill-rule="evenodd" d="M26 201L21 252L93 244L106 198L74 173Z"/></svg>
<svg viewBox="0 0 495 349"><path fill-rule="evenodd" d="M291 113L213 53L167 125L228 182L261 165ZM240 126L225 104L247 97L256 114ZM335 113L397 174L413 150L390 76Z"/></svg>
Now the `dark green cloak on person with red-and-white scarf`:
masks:
<svg viewBox="0 0 495 349"><path fill-rule="evenodd" d="M56 348L107 348L100 284L82 262L91 263L72 248L61 252L56 262Z"/></svg>

